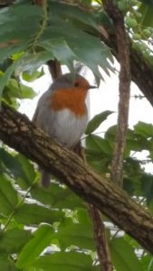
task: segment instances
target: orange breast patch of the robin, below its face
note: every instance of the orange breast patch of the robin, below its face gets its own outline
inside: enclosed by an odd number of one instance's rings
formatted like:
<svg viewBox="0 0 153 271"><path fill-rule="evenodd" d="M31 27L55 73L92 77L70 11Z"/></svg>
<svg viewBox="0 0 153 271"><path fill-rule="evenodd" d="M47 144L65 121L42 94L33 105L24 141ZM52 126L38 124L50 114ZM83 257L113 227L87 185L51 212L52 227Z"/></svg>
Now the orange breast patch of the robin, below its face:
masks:
<svg viewBox="0 0 153 271"><path fill-rule="evenodd" d="M70 109L77 117L82 117L87 112L85 98L86 89L58 89L53 93L50 105L54 111Z"/></svg>

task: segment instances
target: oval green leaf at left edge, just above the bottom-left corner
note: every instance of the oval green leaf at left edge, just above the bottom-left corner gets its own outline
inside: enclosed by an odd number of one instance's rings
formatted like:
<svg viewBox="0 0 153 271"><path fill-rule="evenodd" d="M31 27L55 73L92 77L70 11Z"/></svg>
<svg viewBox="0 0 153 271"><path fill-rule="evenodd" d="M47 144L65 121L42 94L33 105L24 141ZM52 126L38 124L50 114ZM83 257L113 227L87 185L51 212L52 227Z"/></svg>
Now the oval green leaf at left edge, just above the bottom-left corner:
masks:
<svg viewBox="0 0 153 271"><path fill-rule="evenodd" d="M31 238L30 230L9 229L0 233L0 254L18 253Z"/></svg>

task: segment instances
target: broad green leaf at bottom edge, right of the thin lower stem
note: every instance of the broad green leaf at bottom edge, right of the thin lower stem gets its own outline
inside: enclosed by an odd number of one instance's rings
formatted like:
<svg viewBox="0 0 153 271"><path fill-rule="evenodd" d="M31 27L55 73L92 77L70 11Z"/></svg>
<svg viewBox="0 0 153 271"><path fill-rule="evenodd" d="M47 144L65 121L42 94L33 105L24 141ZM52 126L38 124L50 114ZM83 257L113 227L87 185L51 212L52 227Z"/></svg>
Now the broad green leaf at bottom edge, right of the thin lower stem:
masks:
<svg viewBox="0 0 153 271"><path fill-rule="evenodd" d="M134 249L124 238L112 238L110 254L117 271L144 271Z"/></svg>

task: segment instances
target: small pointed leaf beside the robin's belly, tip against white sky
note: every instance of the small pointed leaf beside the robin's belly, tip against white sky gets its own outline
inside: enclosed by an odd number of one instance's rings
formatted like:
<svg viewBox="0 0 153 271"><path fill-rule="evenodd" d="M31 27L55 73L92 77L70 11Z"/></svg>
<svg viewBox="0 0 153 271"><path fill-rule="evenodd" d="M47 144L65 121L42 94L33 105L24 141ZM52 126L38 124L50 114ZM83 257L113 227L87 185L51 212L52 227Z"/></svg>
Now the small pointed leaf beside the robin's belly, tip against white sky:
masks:
<svg viewBox="0 0 153 271"><path fill-rule="evenodd" d="M112 114L113 111L104 111L104 112L101 112L100 114L96 115L95 117L93 117L91 119L91 121L88 123L88 126L87 126L87 129L86 129L86 132L85 134L86 135L89 135L91 134L93 131L95 131L99 126L100 124L107 119L107 117L110 116L110 114Z"/></svg>

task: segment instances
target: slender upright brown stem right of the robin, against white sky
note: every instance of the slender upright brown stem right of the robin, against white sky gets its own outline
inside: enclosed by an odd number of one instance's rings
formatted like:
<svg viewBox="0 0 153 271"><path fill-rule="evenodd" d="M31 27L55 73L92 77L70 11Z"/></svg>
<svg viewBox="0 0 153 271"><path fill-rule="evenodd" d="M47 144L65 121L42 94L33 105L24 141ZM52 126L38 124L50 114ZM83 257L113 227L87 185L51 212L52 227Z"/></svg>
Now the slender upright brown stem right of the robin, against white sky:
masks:
<svg viewBox="0 0 153 271"><path fill-rule="evenodd" d="M122 186L123 154L126 145L126 135L129 118L129 96L130 96L130 66L129 66L129 44L124 26L124 17L120 10L111 0L103 0L103 6L110 18L113 20L118 53L120 59L120 102L116 144L111 164L111 180Z"/></svg>

